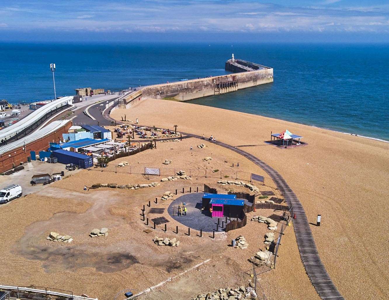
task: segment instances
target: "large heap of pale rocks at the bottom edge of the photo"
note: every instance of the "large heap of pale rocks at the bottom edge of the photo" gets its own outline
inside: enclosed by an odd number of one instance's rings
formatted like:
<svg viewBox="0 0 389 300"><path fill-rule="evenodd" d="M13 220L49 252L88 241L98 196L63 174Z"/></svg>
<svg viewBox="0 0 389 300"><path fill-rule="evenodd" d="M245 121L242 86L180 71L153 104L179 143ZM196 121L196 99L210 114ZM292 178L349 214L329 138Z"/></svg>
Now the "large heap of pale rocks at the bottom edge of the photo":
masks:
<svg viewBox="0 0 389 300"><path fill-rule="evenodd" d="M233 300L233 299L258 299L258 296L254 290L254 284L250 280L250 285L245 288L240 286L235 289L221 288L213 293L199 294L197 297L193 297L192 300Z"/></svg>

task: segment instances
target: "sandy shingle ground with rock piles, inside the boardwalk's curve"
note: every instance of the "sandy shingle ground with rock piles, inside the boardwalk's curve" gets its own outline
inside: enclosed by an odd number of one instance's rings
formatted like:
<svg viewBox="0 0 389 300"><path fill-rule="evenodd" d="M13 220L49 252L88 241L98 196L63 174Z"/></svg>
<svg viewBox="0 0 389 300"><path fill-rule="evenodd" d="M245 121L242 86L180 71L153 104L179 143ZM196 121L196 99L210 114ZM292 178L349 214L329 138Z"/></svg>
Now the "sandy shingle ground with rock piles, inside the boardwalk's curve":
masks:
<svg viewBox="0 0 389 300"><path fill-rule="evenodd" d="M2 282L60 289L84 299L123 300L131 293L148 299L191 299L223 286L231 287L226 295L245 286L249 298L263 298L264 288L276 296L274 281L282 281L282 264L290 263L290 258L283 259L290 241L280 246L277 265L275 244L281 231L285 236L293 231L279 190L263 170L233 151L191 137L173 140L158 141L156 148L112 160L105 168L67 172L62 180L0 206ZM33 164L37 168L45 163ZM151 169L159 174L145 171ZM20 171L21 178L23 172L27 170ZM265 185L253 182L251 173L265 177ZM251 195L251 205L258 208L245 213L247 224L226 232L222 222L226 227L235 219L204 212L205 189ZM184 206L180 198L190 194L198 194L200 203L188 203L185 214L168 209ZM217 230L177 221L202 222L197 219L202 213L208 218L204 222L214 221ZM255 284L253 267L256 274L265 272Z"/></svg>

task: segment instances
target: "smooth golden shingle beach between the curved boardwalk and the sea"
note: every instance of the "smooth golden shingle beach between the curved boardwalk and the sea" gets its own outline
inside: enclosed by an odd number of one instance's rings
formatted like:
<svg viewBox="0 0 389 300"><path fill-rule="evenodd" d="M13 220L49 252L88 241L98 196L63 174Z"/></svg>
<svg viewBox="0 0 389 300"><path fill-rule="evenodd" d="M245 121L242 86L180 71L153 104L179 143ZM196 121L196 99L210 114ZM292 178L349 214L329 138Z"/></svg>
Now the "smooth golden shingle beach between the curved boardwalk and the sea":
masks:
<svg viewBox="0 0 389 300"><path fill-rule="evenodd" d="M388 143L156 99L146 99L131 109L117 109L112 116L120 120L124 114L130 120L138 118L142 125L172 128L177 124L181 132L213 135L217 140L244 147L271 165L296 193L309 222L315 224L317 215L322 215L321 226L312 225L311 230L320 257L342 295L388 297ZM270 140L271 132L285 129L303 136L308 146L279 149L264 142ZM296 257L295 240L288 243L291 255ZM301 261L284 267L289 284L307 280Z"/></svg>

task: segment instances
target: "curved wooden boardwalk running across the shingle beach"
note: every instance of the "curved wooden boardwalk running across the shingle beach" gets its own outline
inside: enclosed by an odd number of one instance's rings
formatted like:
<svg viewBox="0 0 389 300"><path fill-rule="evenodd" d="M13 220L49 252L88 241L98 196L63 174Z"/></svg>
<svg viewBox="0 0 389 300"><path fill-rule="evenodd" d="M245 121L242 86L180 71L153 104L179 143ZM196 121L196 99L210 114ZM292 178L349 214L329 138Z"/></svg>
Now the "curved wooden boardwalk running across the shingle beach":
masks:
<svg viewBox="0 0 389 300"><path fill-rule="evenodd" d="M109 114L107 115L110 120ZM107 118L107 116L105 116ZM145 125L139 125L145 126ZM182 134L188 137L195 137L197 139L202 139L200 135L189 134L181 132ZM296 235L297 246L300 252L301 261L303 262L305 271L308 274L308 277L314 286L315 290L322 299L344 299L339 293L335 284L332 282L329 277L326 268L324 267L321 259L319 257L319 252L317 251L314 237L312 231L309 227L307 215L300 201L298 200L296 194L286 183L286 180L282 178L280 173L274 170L271 166L267 165L259 158L254 155L243 151L241 149L235 148L231 145L225 144L223 142L215 141L215 144L235 151L243 155L248 160L251 160L253 163L258 165L260 168L265 170L266 173L273 179L278 189L282 192L282 195L285 198L286 203L289 207L292 208L292 214L296 213L297 218L293 219L293 228Z"/></svg>

